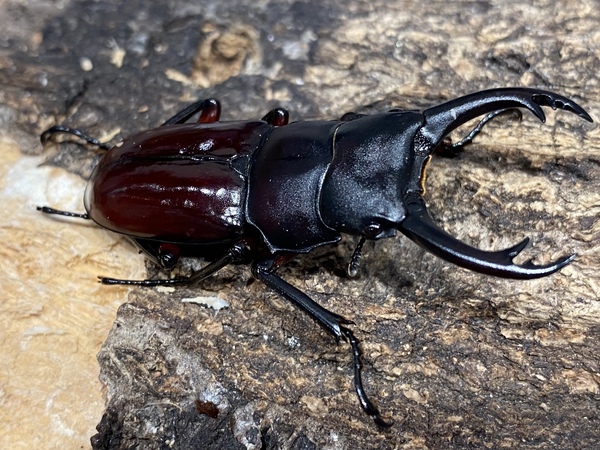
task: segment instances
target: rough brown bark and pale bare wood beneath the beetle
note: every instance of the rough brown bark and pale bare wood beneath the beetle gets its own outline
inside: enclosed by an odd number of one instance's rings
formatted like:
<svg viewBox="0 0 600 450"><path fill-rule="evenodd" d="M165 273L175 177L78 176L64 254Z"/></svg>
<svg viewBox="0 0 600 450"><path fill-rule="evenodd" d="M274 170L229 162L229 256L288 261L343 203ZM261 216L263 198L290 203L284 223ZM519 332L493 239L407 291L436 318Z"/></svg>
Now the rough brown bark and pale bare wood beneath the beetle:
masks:
<svg viewBox="0 0 600 450"><path fill-rule="evenodd" d="M27 166L32 179L35 170L44 180L47 171L53 180L67 176L52 167L89 174L96 156L73 145L38 159L17 157L15 147L41 154L37 135L49 125L123 136L203 97L222 101L224 119L258 118L275 106L301 119L422 108L501 86L555 90L600 118L600 11L591 0L5 1L0 23L0 132L13 149L2 198L14 202L0 222L9 244L3 259L5 270L25 266L0 280L10 300L0 309L0 337L13 352L0 366L5 448L85 442L88 397L64 403L72 407L68 424L48 405L57 383L60 392L78 392L91 376L81 373L94 372L85 358L65 364L61 354L94 342L91 328L101 339L111 309L99 308L88 328L69 321L66 331L48 328L46 318L46 328L36 328L31 316L58 310L52 323L61 323L60 311L83 315L69 291L112 298L102 300L108 303L124 292L68 289L74 270L90 284L96 274L140 276L135 267L120 269L135 253L109 233L30 212L39 201L69 207L64 194L40 194L43 183L35 200L25 188L16 196L8 189L25 170L20 161L45 161ZM487 278L406 239L368 246L358 280L344 279L341 269L351 239L282 269L356 322L365 383L396 420L390 430L376 429L359 410L347 345L336 347L299 311L252 283L245 267L229 267L199 289L130 292L98 356L107 407L97 418L94 448L595 448L599 143L595 125L564 112L548 112L544 125L527 115L521 122L501 118L458 158L438 158L428 170L430 210L452 234L482 248L527 235L534 242L527 255L537 261L579 255L552 277ZM70 192L81 195L81 186ZM65 228L73 235L62 234ZM77 247L82 240L86 245ZM49 262L32 246L62 256ZM114 247L120 259L99 256ZM48 296L56 285L58 304ZM215 313L180 302L198 296L230 306ZM96 329L99 323L106 329ZM44 345L32 356L23 342L36 330ZM48 352L48 361L39 356ZM30 362L20 364L27 356ZM72 370L60 370L70 364ZM32 385L37 390L25 390ZM97 385L86 388L89 395ZM19 412L22 392L29 414Z"/></svg>

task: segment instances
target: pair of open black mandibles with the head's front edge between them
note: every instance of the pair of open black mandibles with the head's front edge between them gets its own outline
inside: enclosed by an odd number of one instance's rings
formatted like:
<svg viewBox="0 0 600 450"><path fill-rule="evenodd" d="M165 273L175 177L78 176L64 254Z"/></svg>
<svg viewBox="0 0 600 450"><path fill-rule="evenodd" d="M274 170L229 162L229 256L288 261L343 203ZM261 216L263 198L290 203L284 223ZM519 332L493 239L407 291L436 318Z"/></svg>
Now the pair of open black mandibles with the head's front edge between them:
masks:
<svg viewBox="0 0 600 450"><path fill-rule="evenodd" d="M413 168L404 195L405 218L398 230L435 255L459 266L506 278L531 279L549 275L572 261L574 256L560 258L550 264L535 265L531 261L518 265L515 258L528 239L501 251L488 252L471 247L440 229L431 220L422 199L425 165L433 150L452 130L478 116L507 108L527 108L542 122L542 106L564 109L581 118L591 117L575 102L547 91L526 88L493 89L451 100L423 112L424 124L414 135Z"/></svg>

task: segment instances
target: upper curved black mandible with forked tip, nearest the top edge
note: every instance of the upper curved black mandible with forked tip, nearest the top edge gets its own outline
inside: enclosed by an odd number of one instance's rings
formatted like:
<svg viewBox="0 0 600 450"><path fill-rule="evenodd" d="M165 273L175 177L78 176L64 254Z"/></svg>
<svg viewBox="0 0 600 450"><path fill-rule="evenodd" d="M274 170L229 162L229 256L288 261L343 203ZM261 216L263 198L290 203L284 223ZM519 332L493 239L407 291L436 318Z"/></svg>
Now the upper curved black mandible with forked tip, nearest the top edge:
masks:
<svg viewBox="0 0 600 450"><path fill-rule="evenodd" d="M465 95L423 111L425 125L419 130L420 138L415 139L415 150L420 154L429 154L444 136L455 128L471 119L500 109L527 108L545 122L546 116L542 106L564 109L593 122L581 106L553 92L531 88L490 89Z"/></svg>

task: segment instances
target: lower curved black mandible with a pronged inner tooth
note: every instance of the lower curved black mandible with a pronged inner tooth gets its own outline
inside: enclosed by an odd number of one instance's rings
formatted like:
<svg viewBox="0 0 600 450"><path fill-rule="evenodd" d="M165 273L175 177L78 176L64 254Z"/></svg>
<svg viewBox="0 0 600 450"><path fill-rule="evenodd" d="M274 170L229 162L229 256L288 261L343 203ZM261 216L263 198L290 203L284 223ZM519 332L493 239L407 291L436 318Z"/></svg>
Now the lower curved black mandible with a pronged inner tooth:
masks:
<svg viewBox="0 0 600 450"><path fill-rule="evenodd" d="M575 258L575 255L571 255L545 265L535 265L531 261L523 265L515 264L513 259L527 246L529 238L510 248L495 252L471 247L439 228L427 213L421 198L407 205L406 218L398 226L398 230L446 261L476 272L503 278L529 280L544 277L562 269Z"/></svg>

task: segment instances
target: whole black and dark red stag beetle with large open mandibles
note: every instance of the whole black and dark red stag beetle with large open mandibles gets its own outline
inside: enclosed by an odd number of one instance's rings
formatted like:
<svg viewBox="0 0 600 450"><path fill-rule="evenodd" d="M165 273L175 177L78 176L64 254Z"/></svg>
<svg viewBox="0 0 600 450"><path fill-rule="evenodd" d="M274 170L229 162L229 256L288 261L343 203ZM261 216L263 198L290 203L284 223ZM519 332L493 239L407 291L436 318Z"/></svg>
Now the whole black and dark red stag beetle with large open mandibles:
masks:
<svg viewBox="0 0 600 450"><path fill-rule="evenodd" d="M591 117L561 95L537 89L476 92L423 112L348 113L340 120L288 124L277 108L260 121L219 122L214 99L198 101L159 128L142 131L114 147L77 129L55 126L41 136L70 133L108 150L85 192L85 214L38 207L82 219L130 237L157 264L171 269L182 256L205 257L189 277L121 280L104 284L193 285L232 263L250 263L252 275L311 316L336 341L350 343L354 386L364 412L389 426L361 380L361 352L348 327L277 275L298 253L334 244L341 233L360 237L348 272L355 275L365 240L402 232L435 255L459 266L506 278L532 279L560 270L574 256L550 264L515 264L528 239L500 251L473 248L438 228L423 201L425 168L443 139L465 122L487 120L514 108L545 121L542 106ZM199 114L198 123L186 123Z"/></svg>

